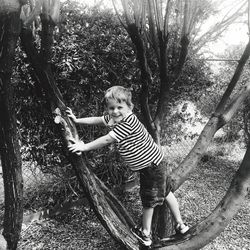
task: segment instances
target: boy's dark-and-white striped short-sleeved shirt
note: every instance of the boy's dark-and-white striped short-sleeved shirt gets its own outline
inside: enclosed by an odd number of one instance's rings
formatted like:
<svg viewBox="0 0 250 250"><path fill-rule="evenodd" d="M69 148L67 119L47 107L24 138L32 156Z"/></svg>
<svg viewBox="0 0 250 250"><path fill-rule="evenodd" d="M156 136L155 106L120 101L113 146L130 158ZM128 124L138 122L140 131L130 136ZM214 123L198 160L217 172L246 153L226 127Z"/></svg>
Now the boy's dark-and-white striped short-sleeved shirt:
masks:
<svg viewBox="0 0 250 250"><path fill-rule="evenodd" d="M133 113L119 123L114 123L109 115L103 116L103 121L111 129L109 135L116 140L118 150L131 170L137 171L151 163L158 165L161 162L163 152Z"/></svg>

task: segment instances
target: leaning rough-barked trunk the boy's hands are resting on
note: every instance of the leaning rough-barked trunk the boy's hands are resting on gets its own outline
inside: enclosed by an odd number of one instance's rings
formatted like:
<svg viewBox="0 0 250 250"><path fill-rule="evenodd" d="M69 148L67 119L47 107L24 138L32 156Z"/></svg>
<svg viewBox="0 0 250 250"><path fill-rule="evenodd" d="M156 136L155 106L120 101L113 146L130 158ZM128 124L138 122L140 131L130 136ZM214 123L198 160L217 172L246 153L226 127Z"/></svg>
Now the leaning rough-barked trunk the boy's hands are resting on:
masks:
<svg viewBox="0 0 250 250"><path fill-rule="evenodd" d="M43 37L44 45L47 50L51 48L51 36L53 36L53 24L49 20L43 20ZM44 32L44 33L43 33ZM49 35L50 34L50 35ZM72 138L78 139L77 131L67 117L66 105L64 104L62 95L56 87L51 67L48 61L41 58L34 46L32 31L29 28L23 28L21 32L21 42L24 51L34 69L36 81L39 87L45 92L48 103L50 103L51 111L55 116L55 121L61 127L62 138L64 145L69 145L69 140ZM50 45L49 45L50 44ZM44 49L44 48L42 48ZM50 53L46 52L48 56ZM48 59L48 58L47 58ZM109 234L126 249L139 249L138 242L131 234L130 228L135 224L112 192L95 176L95 174L88 168L87 160L84 156L77 156L76 154L69 154L69 160L76 172L79 183L85 191L86 197L89 200L96 216L101 224L109 232Z"/></svg>

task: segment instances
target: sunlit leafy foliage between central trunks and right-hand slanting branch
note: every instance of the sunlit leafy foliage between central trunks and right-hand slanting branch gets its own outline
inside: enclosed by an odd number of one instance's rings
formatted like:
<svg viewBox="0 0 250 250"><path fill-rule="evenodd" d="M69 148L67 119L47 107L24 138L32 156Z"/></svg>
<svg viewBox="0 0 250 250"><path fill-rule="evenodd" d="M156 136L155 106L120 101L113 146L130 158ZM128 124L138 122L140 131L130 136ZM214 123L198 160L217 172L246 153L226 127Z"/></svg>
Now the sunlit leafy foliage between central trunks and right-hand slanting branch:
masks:
<svg viewBox="0 0 250 250"><path fill-rule="evenodd" d="M165 116L162 127L162 143L166 145L181 141L187 137L194 139L198 135L186 133L183 129L183 124L198 121L200 119L198 112L202 112L203 107L211 107L209 99L202 103L200 103L200 100L206 96L209 88L216 85L211 69L205 61L202 58L194 58L192 55L188 58L176 84L178 88L171 90L169 112ZM196 105L195 114L191 115L185 112L188 103ZM181 112L178 110L178 107L181 107ZM210 109L209 112L202 114L207 117L212 111L213 109ZM203 121L200 122L202 123Z"/></svg>

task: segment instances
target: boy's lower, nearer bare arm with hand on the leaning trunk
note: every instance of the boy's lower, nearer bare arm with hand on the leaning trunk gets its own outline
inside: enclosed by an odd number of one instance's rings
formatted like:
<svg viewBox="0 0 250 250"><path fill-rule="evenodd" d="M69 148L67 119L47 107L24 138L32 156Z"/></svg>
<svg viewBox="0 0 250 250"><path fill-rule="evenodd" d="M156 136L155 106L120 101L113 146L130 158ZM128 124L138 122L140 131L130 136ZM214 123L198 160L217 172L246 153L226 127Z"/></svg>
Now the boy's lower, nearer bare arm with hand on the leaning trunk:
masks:
<svg viewBox="0 0 250 250"><path fill-rule="evenodd" d="M86 144L82 141L76 142L74 144L69 145L68 148L69 148L69 151L71 151L72 153L78 153L78 152L84 152L84 151L90 151L90 150L102 148L104 146L107 146L113 143L114 141L115 139L111 137L109 134L107 134Z"/></svg>

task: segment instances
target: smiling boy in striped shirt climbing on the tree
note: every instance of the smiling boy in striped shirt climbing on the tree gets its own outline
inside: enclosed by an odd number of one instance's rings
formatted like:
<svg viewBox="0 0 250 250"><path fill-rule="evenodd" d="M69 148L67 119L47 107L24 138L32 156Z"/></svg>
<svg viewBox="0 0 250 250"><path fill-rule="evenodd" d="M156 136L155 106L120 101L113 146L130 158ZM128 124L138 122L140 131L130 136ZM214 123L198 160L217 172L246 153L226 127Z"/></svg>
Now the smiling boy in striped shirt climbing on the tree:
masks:
<svg viewBox="0 0 250 250"><path fill-rule="evenodd" d="M163 153L153 141L143 124L132 113L132 94L129 89L113 86L105 93L108 115L102 117L76 118L68 108L68 116L77 124L106 125L111 131L89 143L82 141L68 146L73 153L104 147L116 142L118 150L132 171L140 172L140 196L143 205L142 228L133 228L132 233L145 246L152 244L151 223L154 207L167 204L176 221L176 232L186 234L189 227L182 221L178 202L171 192L166 169L161 163Z"/></svg>

